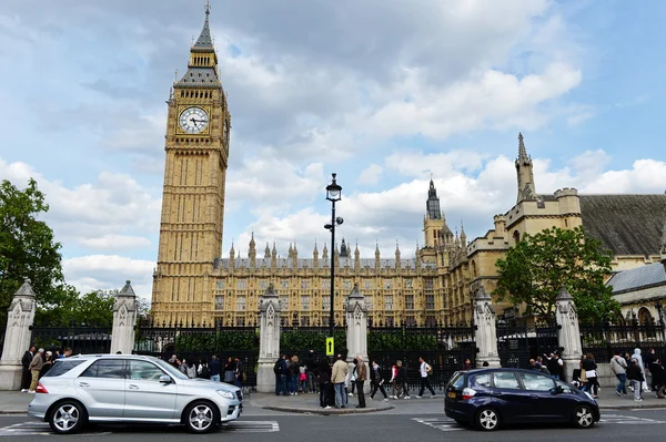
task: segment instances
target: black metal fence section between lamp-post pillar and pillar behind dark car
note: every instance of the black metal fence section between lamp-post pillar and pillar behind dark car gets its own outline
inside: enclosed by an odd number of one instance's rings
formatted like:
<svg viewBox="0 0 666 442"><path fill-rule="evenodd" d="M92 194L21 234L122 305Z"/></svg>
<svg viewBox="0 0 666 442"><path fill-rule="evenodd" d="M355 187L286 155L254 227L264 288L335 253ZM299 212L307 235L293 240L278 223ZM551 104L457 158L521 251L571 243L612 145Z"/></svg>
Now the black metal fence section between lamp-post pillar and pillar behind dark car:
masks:
<svg viewBox="0 0 666 442"><path fill-rule="evenodd" d="M476 345L473 327L369 327L367 353L376 361L386 381L391 368L402 361L407 370L410 389L418 387L422 357L433 368L431 384L444 390L466 360L475 367Z"/></svg>

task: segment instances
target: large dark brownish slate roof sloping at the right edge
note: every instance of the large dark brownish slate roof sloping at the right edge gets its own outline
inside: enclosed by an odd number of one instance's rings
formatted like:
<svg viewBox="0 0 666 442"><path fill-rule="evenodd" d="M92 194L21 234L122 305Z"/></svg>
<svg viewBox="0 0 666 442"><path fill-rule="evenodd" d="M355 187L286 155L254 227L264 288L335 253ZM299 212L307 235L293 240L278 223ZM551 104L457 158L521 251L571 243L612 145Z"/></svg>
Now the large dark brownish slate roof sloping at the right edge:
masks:
<svg viewBox="0 0 666 442"><path fill-rule="evenodd" d="M583 227L614 256L659 255L666 195L579 195Z"/></svg>

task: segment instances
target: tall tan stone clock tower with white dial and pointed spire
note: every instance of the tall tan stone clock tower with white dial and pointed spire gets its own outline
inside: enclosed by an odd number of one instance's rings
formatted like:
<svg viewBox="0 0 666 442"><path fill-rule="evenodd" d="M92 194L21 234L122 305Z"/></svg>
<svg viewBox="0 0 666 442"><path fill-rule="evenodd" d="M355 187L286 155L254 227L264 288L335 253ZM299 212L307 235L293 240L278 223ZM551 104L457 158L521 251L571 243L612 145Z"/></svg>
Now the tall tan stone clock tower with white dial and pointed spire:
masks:
<svg viewBox="0 0 666 442"><path fill-rule="evenodd" d="M210 7L188 71L173 85L167 120L167 160L158 266L155 321L210 320L213 261L221 256L231 115L218 76Z"/></svg>

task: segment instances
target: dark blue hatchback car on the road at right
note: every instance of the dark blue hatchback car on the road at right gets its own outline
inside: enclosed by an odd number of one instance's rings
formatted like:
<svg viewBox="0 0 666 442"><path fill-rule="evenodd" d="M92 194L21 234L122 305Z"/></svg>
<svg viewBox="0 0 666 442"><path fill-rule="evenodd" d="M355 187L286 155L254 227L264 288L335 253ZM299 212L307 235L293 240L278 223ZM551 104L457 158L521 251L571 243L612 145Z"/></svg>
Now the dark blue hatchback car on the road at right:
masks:
<svg viewBox="0 0 666 442"><path fill-rule="evenodd" d="M532 370L458 371L444 401L447 417L486 431L521 422L568 422L585 429L599 420L599 407L587 393Z"/></svg>

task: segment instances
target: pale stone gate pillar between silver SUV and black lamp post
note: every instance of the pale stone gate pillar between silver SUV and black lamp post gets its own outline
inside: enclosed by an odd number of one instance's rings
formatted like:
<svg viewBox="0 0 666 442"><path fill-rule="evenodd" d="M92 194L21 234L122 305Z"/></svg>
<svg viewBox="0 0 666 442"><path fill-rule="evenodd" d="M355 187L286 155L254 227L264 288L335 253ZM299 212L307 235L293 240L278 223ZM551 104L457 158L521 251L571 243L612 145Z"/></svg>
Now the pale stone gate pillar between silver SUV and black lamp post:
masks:
<svg viewBox="0 0 666 442"><path fill-rule="evenodd" d="M259 367L256 369L256 391L275 392L273 366L280 358L280 298L271 284L266 289L260 311Z"/></svg>

